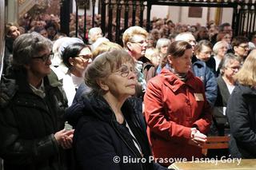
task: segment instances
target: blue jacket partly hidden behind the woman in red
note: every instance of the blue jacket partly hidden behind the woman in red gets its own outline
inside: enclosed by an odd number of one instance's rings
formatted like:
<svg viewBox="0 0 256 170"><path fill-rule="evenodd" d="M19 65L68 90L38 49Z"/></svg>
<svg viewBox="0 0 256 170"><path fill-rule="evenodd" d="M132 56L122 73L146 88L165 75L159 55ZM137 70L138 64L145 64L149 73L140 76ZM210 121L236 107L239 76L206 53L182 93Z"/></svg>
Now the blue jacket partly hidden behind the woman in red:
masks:
<svg viewBox="0 0 256 170"><path fill-rule="evenodd" d="M206 99L211 107L213 107L218 93L218 86L214 73L210 71L204 61L195 61L192 67L194 75L199 77L205 85Z"/></svg>

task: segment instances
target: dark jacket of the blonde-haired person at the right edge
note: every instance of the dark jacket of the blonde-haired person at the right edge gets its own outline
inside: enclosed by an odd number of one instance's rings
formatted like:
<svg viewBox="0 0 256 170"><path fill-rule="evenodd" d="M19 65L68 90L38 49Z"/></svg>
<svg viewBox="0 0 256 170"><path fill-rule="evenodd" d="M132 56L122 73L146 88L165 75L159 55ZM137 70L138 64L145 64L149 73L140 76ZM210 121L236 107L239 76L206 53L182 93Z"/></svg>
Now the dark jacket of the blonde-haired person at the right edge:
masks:
<svg viewBox="0 0 256 170"><path fill-rule="evenodd" d="M237 85L227 104L232 157L256 158L256 89Z"/></svg>

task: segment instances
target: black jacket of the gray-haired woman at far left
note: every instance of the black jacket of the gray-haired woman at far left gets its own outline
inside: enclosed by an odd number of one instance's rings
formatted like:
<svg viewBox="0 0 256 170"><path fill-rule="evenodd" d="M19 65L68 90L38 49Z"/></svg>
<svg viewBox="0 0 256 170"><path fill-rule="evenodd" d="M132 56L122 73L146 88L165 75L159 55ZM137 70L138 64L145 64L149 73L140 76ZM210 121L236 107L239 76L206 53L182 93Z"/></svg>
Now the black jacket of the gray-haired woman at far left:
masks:
<svg viewBox="0 0 256 170"><path fill-rule="evenodd" d="M0 156L5 170L63 170L64 151L54 133L64 128L67 106L59 82L44 78L46 97L33 93L26 73L2 77L0 86Z"/></svg>

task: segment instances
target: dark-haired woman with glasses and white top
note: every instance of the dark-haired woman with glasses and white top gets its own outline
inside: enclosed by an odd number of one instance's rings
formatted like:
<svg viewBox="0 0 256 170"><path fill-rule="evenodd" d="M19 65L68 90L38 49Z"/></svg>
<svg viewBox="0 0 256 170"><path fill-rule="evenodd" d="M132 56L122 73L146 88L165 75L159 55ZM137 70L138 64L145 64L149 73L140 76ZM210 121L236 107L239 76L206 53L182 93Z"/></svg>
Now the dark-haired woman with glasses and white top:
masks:
<svg viewBox="0 0 256 170"><path fill-rule="evenodd" d="M58 80L62 80L69 106L74 100L79 85L84 81L84 73L91 62L91 57L89 46L80 42L73 43L68 45L62 53L64 65L52 68Z"/></svg>

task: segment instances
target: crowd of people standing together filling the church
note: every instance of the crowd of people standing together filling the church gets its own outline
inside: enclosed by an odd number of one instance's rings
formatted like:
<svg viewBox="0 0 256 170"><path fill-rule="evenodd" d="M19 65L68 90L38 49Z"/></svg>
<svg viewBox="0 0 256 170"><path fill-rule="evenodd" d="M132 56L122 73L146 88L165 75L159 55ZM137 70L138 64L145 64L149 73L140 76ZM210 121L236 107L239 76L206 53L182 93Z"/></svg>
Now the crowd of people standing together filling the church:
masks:
<svg viewBox="0 0 256 170"><path fill-rule="evenodd" d="M256 158L256 34L154 18L118 45L99 27L85 41L59 33L54 15L28 18L6 25L5 170L167 169L160 158L203 158L208 136L230 136L216 155Z"/></svg>

